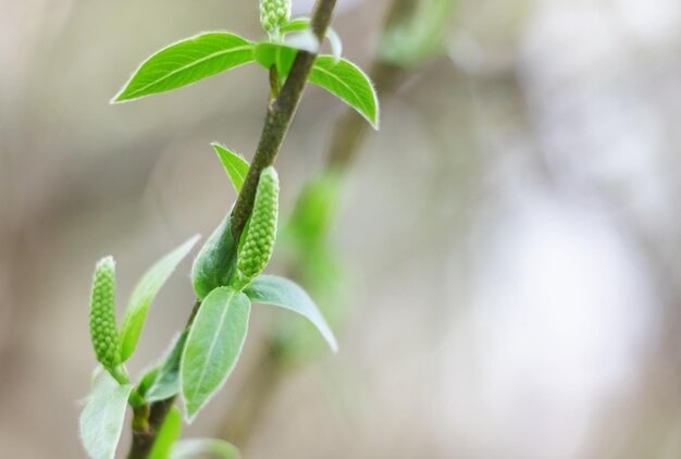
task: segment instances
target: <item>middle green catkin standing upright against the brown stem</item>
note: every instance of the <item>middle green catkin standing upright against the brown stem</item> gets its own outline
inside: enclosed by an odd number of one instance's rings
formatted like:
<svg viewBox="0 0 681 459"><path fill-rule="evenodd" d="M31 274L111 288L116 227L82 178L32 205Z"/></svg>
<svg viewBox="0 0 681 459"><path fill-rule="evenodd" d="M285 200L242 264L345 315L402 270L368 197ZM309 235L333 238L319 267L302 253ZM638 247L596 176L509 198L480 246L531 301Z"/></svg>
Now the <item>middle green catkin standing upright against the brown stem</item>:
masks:
<svg viewBox="0 0 681 459"><path fill-rule="evenodd" d="M268 265L276 237L278 177L269 166L260 174L250 227L239 250L237 269L243 285L258 276Z"/></svg>

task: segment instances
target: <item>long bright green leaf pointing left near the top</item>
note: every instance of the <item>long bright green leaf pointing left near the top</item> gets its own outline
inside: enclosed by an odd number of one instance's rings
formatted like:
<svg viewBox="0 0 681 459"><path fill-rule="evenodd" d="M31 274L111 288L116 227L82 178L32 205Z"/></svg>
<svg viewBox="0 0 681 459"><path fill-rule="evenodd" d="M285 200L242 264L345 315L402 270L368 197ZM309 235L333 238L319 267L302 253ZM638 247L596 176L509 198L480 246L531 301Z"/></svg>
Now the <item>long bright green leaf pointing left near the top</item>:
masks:
<svg viewBox="0 0 681 459"><path fill-rule="evenodd" d="M157 52L133 74L112 103L190 85L253 60L253 46L238 35L211 32Z"/></svg>

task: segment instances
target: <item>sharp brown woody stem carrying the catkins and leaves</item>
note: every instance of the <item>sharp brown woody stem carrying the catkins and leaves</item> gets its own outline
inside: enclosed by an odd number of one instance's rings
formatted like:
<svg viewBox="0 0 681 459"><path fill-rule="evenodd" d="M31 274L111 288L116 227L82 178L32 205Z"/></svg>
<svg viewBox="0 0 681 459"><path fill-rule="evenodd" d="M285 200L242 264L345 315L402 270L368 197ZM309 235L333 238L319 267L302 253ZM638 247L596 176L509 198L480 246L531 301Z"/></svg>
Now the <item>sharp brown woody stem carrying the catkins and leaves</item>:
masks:
<svg viewBox="0 0 681 459"><path fill-rule="evenodd" d="M320 42L326 35L326 29L331 23L331 16L335 5L336 0L317 0L310 26ZM302 90L305 89L315 58L317 55L313 53L298 51L284 87L278 92L278 96L268 106L268 114L258 149L256 150L250 169L248 170L248 175L246 176L246 181L244 182L244 186L232 212L232 234L234 235L234 240L239 240L244 232L244 226L252 213L260 173L263 169L272 165L278 154L284 138L288 133L290 122L296 113L296 109L298 108L298 103L300 102L300 98L302 97ZM186 328L189 328L194 322L194 317L199 306L200 302L197 301L187 321ZM175 398L176 396L156 401L151 405L138 407L138 409L135 410L136 419L133 425L133 442L128 459L144 459L149 457L158 432L163 425L165 417L174 404ZM137 419L138 414L146 419ZM137 425L144 425L144 427L136 429Z"/></svg>

